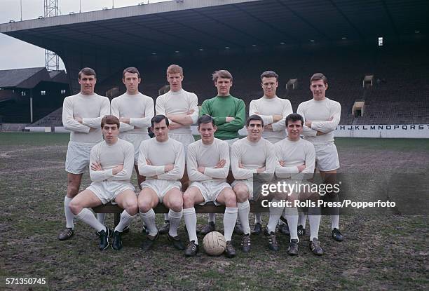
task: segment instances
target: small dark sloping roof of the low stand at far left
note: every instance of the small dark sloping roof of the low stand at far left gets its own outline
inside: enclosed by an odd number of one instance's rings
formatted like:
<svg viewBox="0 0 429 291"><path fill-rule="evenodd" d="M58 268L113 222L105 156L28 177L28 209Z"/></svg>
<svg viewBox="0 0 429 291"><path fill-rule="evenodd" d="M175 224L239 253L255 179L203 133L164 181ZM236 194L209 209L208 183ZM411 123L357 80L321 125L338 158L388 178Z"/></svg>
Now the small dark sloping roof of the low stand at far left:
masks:
<svg viewBox="0 0 429 291"><path fill-rule="evenodd" d="M6 69L0 71L0 88L31 89L41 81L67 83L64 76L64 71L48 72L46 67Z"/></svg>

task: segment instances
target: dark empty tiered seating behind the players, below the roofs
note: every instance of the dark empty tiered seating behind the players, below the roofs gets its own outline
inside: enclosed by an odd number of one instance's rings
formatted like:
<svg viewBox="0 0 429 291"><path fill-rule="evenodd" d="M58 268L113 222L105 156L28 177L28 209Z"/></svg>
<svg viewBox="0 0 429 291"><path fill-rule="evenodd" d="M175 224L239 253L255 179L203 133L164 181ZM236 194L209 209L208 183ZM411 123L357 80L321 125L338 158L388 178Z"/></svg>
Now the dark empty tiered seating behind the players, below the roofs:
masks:
<svg viewBox="0 0 429 291"><path fill-rule="evenodd" d="M412 52L412 53L407 53ZM165 86L165 69L177 63L184 67L184 88L198 95L199 103L215 95L216 89L211 81L211 74L216 69L229 69L233 74L231 93L250 101L261 97L259 82L261 72L273 69L280 75L278 96L292 102L294 110L298 104L309 100L311 93L308 81L314 72L322 72L329 79L327 97L341 103L341 124L416 124L429 122L429 84L427 68L429 61L425 57L425 48L415 45L398 45L390 48L368 46L350 46L333 48L315 48L313 50L290 50L285 52L256 52L245 55L217 55L202 57L200 60L189 58L163 59L135 65L142 74L140 90L156 100L158 89ZM366 75L374 75L372 86L363 87ZM125 92L121 81L122 70L111 74L104 81L97 83L97 93L105 94L111 88L116 97ZM286 88L290 79L297 79L296 88ZM46 100L36 104L32 126L61 126L61 109L58 105L63 97L56 100L57 107L47 106ZM352 114L356 100L365 101L362 116ZM13 111L15 118L11 122L29 119L27 104L16 104L7 100L0 102L0 115Z"/></svg>

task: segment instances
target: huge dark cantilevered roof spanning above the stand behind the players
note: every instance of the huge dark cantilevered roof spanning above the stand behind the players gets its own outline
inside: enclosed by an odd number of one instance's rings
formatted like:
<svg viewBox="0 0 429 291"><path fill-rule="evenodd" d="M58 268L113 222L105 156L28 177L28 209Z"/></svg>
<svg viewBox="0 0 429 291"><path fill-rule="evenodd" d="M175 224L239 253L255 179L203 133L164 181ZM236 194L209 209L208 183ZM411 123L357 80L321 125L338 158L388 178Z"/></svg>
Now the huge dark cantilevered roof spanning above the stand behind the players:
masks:
<svg viewBox="0 0 429 291"><path fill-rule="evenodd" d="M140 55L303 43L376 43L425 36L427 0L184 0L0 25L43 48L81 46Z"/></svg>

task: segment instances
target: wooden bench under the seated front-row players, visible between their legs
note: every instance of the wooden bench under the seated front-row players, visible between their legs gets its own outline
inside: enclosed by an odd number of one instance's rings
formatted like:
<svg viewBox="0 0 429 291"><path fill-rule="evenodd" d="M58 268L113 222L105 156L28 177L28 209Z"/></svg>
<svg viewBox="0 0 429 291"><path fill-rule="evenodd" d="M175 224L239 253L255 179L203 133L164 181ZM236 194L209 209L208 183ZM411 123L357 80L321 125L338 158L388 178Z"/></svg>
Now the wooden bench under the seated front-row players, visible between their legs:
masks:
<svg viewBox="0 0 429 291"><path fill-rule="evenodd" d="M209 202L205 205L195 205L194 207L195 207L196 213L224 213L225 212L225 205L216 206L212 202ZM111 203L94 207L93 210L95 213L114 213L115 226L118 225L119 219L121 219L121 212L123 212L122 208L120 208L118 205L113 205ZM165 208L165 206L162 203L159 203L158 205L156 205L156 208L154 208L154 211L156 213L168 213L169 209ZM261 201L250 201L250 212L269 212L269 208L263 207L261 205Z"/></svg>

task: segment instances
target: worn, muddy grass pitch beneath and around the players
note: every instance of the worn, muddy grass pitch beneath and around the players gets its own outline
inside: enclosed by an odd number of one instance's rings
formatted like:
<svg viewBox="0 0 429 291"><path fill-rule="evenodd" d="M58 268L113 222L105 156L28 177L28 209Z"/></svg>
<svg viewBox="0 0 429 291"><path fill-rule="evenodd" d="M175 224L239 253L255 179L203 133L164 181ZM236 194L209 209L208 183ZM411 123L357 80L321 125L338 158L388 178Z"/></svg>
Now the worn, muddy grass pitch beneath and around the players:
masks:
<svg viewBox="0 0 429 291"><path fill-rule="evenodd" d="M75 236L57 241L65 225L67 182L64 159L67 134L0 133L0 288L6 278L46 278L31 290L428 290L428 222L425 215L343 215L345 240L330 238L329 217L322 217L319 240L326 255L308 249L300 238L299 256L286 254L288 237L278 234L280 251L271 252L264 236L252 236L252 251L235 259L208 257L200 251L185 258L166 236L144 254L141 221L134 219L123 236L123 250L97 249L95 231L81 222ZM336 139L341 172L429 172L428 140ZM137 186L135 177L133 182ZM90 184L88 172L81 189ZM359 189L355 189L359 191ZM428 197L429 198L429 197ZM158 224L163 217L158 216ZM207 217L198 216L198 224ZM250 215L253 221L253 215ZM263 224L268 216L263 216ZM113 215L107 215L113 226ZM222 228L222 215L217 215ZM252 226L251 226L252 227ZM308 233L308 224L307 224ZM187 241L184 223L179 235ZM202 243L202 238L200 243Z"/></svg>

